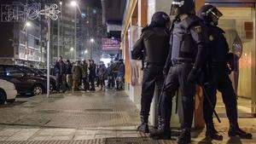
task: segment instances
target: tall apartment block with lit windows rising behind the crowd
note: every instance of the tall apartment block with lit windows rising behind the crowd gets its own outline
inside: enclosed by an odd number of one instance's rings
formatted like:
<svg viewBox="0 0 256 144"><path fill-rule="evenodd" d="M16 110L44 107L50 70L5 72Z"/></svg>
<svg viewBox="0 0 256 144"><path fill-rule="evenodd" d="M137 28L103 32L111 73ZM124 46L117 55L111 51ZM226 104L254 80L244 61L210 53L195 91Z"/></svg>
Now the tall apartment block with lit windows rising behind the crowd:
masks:
<svg viewBox="0 0 256 144"><path fill-rule="evenodd" d="M73 62L90 57L100 60L101 37L106 37L105 26L102 26L102 9L84 1L78 1L79 7L72 7L67 0L57 0L55 3L60 2L60 19L51 23L50 63L54 64L59 56ZM90 42L91 38L94 39L93 43Z"/></svg>

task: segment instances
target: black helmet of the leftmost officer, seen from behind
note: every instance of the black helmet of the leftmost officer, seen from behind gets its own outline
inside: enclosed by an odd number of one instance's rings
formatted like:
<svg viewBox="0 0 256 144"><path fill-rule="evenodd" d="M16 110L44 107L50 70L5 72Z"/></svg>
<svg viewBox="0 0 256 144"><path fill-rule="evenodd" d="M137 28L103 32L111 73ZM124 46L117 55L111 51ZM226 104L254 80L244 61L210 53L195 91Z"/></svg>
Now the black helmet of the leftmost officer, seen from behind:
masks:
<svg viewBox="0 0 256 144"><path fill-rule="evenodd" d="M171 21L169 15L161 11L154 13L151 19L151 24L155 23L157 26L163 27L165 27L170 22Z"/></svg>

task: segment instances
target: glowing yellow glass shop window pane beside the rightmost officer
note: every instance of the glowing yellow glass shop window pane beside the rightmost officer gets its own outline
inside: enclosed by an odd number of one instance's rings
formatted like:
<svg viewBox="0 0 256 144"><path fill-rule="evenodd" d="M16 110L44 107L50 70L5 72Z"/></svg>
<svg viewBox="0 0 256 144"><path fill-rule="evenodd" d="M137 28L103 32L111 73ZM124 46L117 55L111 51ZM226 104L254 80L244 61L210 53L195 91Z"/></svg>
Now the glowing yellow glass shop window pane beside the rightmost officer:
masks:
<svg viewBox="0 0 256 144"><path fill-rule="evenodd" d="M236 91L238 112L250 113L252 103L252 79L253 74L253 13L252 8L218 8L224 15L219 20L219 27L224 29L225 37L229 43L230 52L240 55L236 71L230 74L233 88ZM220 95L220 94L218 94ZM218 96L218 101L219 100ZM223 105L218 103L218 105ZM224 108L223 111L224 112Z"/></svg>

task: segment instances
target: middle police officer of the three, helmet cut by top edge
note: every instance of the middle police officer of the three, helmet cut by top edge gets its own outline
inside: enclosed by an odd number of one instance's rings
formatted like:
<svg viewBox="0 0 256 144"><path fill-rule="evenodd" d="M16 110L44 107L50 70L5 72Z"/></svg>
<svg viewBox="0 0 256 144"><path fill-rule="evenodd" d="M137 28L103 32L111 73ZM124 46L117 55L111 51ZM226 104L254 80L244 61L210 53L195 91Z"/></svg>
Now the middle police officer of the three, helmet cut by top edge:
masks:
<svg viewBox="0 0 256 144"><path fill-rule="evenodd" d="M154 139L171 139L170 119L172 97L181 89L183 102L183 130L177 143L191 141L190 129L194 112L194 96L197 73L207 49L207 33L200 18L195 15L193 0L173 0L171 14L175 15L171 31L171 48L166 60L167 73L164 89L160 95L160 127L150 136Z"/></svg>

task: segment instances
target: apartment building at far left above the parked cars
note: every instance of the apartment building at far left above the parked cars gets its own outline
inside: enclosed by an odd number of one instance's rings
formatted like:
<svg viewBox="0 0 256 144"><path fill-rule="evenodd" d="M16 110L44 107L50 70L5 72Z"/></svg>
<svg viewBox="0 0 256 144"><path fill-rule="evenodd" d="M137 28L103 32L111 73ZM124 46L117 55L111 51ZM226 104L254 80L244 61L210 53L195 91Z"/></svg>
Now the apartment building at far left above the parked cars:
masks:
<svg viewBox="0 0 256 144"><path fill-rule="evenodd" d="M38 7L41 6L38 0L15 1L9 4L30 5L32 3L38 3ZM29 26L26 26L27 23ZM11 43L3 44L0 62L43 68L46 61L46 21L29 20L25 17L24 21L6 22L4 25L8 27L6 34L9 37L3 37L3 41Z"/></svg>

